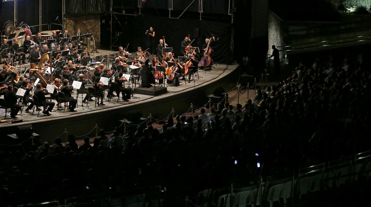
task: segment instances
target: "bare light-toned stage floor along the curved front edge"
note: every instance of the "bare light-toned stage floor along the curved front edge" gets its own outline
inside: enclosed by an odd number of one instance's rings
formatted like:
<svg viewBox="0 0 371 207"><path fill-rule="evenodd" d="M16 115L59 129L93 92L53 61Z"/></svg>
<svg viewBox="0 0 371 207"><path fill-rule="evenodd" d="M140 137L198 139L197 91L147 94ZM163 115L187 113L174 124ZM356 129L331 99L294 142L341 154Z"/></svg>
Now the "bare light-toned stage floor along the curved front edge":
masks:
<svg viewBox="0 0 371 207"><path fill-rule="evenodd" d="M104 54L104 53L113 53L114 51L105 51L105 50L99 50L99 53L101 54ZM92 54L93 56L93 54ZM26 67L28 67L29 64L26 64ZM192 90L197 90L197 89L200 89L202 88L203 86L206 86L210 83L213 83L214 81L217 81L217 80L220 80L220 79L226 79L227 76L232 73L234 70L236 70L239 66L237 64L231 64L231 65L225 65L225 64L214 64L213 65L213 68L212 70L210 71L198 71L198 77L197 77L197 73L195 74L196 76L194 76L194 79L191 80L190 83L188 83L188 81L181 81L180 82L180 86L172 86L172 85L168 85L165 83L165 87L167 87L167 93L164 93L164 94L160 94L158 96L147 96L147 95L141 95L141 94L134 94L134 97L132 97L128 102L124 102L122 100L118 100L117 97L114 97L111 99L112 102L108 102L106 101L104 104L105 106L96 106L95 107L95 103L94 101L91 101L89 102L88 106L89 107L81 107L79 106L78 108L76 108L75 110L77 110L77 112L69 112L66 108L66 111L65 113L62 113L60 111L55 111L55 109L57 108L56 107L56 104L55 104L55 107L54 107L54 110L51 112L52 115L50 116L41 116L43 115L42 114L42 111L40 111L40 115L39 117L37 117L37 111L34 112L34 114L27 114L25 113L25 111L23 110L22 111L22 114L18 114L17 117L19 119L22 119L23 122L21 123L14 123L12 124L10 121L12 120L11 118L9 118L9 113L7 113L7 120L9 120L9 123L1 123L0 124L0 128L2 127L9 127L9 126L17 126L17 125L23 125L23 124L34 124L34 123L37 123L37 124L40 124L40 122L44 122L44 121L53 121L53 120L56 120L56 119L63 119L63 118L76 118L76 117L79 117L81 118L81 116L84 116L84 115L87 115L87 114L93 114L93 113L97 113L97 112L105 112L105 111L111 111L111 110L116 110L118 108L125 108L125 107L128 107L128 106L133 106L133 105L137 105L137 104L141 104L141 103L149 103L151 101L154 101L154 102L157 102L158 103L158 100L161 100L161 99L164 99L166 97L169 97L169 95L173 96L175 94L181 94L181 93L185 93L185 92L189 92L189 91L192 91ZM128 87L128 86L132 86L132 84L125 84L125 87ZM138 83L137 83L137 87L138 87ZM163 84L162 84L163 86ZM86 88L89 87L89 85L86 85ZM135 86L133 86L135 87ZM158 85L156 85L156 87L159 87ZM73 97L76 97L76 89L74 89L75 93L72 94ZM115 93L114 93L115 94ZM84 97L86 94L83 94ZM105 94L105 99L106 98L106 95ZM116 94L115 94L116 95ZM121 97L121 95L120 95ZM118 100L118 102L117 102ZM52 100L56 103L56 100ZM78 99L78 105L81 105L82 104L82 99L81 99L81 96L79 97ZM63 104L62 104L63 106ZM86 104L84 104L84 106L86 106ZM170 110L171 110L171 106L169 107ZM26 109L26 107L24 107L24 109ZM63 108L62 108L63 109ZM5 110L4 109L0 109L0 114L1 116L3 116L2 118L4 119L4 114L5 114ZM99 116L99 115L97 115ZM70 119L68 119L70 120Z"/></svg>

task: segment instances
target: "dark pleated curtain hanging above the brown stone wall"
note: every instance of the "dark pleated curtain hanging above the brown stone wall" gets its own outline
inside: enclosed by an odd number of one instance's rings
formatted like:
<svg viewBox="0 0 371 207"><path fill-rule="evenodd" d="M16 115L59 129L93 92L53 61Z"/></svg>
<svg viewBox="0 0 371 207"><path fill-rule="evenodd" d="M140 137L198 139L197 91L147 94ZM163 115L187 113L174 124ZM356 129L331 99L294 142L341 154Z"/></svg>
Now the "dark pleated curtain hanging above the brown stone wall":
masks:
<svg viewBox="0 0 371 207"><path fill-rule="evenodd" d="M91 14L109 12L109 0L69 0L66 13Z"/></svg>

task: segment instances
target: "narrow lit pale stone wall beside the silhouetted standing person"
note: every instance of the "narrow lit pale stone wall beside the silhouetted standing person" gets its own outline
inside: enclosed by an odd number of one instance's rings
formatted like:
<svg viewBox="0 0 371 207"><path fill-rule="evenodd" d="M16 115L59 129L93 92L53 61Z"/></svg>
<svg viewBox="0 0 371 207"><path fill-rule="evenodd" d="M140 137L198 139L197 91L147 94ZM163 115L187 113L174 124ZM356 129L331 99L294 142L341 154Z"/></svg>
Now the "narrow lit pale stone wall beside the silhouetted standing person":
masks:
<svg viewBox="0 0 371 207"><path fill-rule="evenodd" d="M268 13L268 52L267 54L272 54L272 45L275 45L279 50L278 46L285 46L285 41L283 40L283 21L279 19L272 11ZM284 53L280 53L281 58L285 57Z"/></svg>

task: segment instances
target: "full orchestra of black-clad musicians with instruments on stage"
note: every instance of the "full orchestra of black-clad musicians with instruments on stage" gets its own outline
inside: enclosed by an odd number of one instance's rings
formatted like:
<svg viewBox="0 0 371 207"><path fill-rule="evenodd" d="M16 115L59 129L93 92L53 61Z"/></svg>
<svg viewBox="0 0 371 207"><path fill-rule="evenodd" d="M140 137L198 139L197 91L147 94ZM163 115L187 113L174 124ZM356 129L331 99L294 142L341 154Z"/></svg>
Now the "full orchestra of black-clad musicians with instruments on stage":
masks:
<svg viewBox="0 0 371 207"><path fill-rule="evenodd" d="M177 87L182 81L190 83L199 70L211 69L213 64L213 35L202 48L193 47L194 39L185 36L179 43L181 50L173 51L165 37L157 38L150 27L144 33L143 49L138 46L137 51L129 52L128 46L119 47L112 59L96 50L92 34L82 33L80 28L75 34L53 30L47 34L26 33L24 40L2 36L0 95L11 109L10 117L16 118L21 103L27 104L26 113L42 110L50 116L55 105L51 99L57 101L58 109L65 110L67 103L70 112L76 112L78 96L85 96L81 98L82 105L89 101L95 101L95 106L105 105L105 94L108 101L120 94L123 101L129 101L134 87ZM95 57L90 56L92 53ZM73 91L75 87L78 88ZM73 97L73 93L78 96Z"/></svg>

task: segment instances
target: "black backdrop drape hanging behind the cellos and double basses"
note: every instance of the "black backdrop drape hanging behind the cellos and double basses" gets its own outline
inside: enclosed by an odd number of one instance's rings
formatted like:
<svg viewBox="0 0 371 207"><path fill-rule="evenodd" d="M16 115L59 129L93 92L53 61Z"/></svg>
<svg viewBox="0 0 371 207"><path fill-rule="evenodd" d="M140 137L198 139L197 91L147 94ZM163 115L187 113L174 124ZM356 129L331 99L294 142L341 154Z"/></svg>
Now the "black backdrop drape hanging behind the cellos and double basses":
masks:
<svg viewBox="0 0 371 207"><path fill-rule="evenodd" d="M119 21L124 22L125 17L116 15ZM126 20L127 21L127 20ZM144 48L145 31L153 27L155 30L155 41L158 41L162 36L165 36L168 47L173 47L175 55L180 53L181 41L188 34L191 39L195 38L194 29L199 28L199 37L192 43L193 47L199 47L201 50L205 39L213 34L219 40L213 44L214 56L213 60L219 63L231 63L231 38L232 28L231 23L220 23L214 21L186 20L186 19L170 19L167 17L154 16L137 16L129 21L124 33L121 34L119 44L126 47L129 44L129 51L137 51L138 46Z"/></svg>

